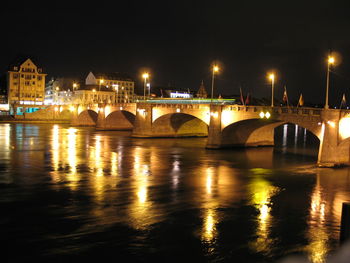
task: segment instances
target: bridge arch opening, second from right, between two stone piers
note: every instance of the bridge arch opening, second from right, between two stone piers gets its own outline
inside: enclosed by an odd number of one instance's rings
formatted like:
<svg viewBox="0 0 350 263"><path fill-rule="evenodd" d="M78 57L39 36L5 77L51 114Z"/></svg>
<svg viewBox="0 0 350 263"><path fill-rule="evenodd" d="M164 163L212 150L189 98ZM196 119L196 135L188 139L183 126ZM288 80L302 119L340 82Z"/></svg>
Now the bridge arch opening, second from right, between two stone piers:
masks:
<svg viewBox="0 0 350 263"><path fill-rule="evenodd" d="M153 121L152 134L159 137L204 137L208 136L208 125L187 113L168 113Z"/></svg>

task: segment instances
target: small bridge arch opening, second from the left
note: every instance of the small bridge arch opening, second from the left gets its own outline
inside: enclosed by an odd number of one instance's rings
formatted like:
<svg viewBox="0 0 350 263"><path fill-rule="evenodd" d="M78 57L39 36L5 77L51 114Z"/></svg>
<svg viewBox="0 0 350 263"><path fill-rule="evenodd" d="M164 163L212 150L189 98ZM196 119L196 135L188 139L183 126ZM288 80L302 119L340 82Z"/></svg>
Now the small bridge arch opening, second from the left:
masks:
<svg viewBox="0 0 350 263"><path fill-rule="evenodd" d="M106 116L104 129L132 130L135 123L135 114L126 110L112 111Z"/></svg>

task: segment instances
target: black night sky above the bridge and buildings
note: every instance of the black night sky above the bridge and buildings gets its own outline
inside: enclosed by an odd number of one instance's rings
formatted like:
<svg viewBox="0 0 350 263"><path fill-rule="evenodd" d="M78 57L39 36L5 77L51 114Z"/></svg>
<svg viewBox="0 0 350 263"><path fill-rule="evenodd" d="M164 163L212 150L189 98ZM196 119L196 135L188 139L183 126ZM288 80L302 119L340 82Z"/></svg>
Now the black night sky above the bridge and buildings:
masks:
<svg viewBox="0 0 350 263"><path fill-rule="evenodd" d="M113 3L113 4L112 4ZM278 74L277 98L324 103L326 58L338 52L330 104L350 101L350 10L345 1L35 1L0 9L0 69L19 54L38 61L48 76L80 77L88 71L131 74L152 85L210 91L213 61L222 71L217 94L270 97L267 72ZM6 26L4 26L6 25Z"/></svg>

